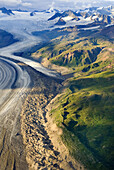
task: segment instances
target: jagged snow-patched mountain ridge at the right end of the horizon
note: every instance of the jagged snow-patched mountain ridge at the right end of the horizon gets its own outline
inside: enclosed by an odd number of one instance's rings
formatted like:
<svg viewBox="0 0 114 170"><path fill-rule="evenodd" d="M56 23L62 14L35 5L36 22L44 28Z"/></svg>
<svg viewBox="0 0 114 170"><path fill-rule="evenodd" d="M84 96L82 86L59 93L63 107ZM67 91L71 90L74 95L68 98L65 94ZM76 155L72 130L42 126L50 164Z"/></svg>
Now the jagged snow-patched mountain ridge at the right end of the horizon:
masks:
<svg viewBox="0 0 114 170"><path fill-rule="evenodd" d="M99 8L96 7L96 8L86 8L85 11L74 12L72 10L66 10L62 13L57 12L52 17L50 17L48 21L55 20L57 18L59 18L59 20L62 19L65 22L67 19L79 21L81 19L80 17L83 17L83 19L89 19L90 21L94 21L94 22L105 22L106 24L114 23L114 18L113 15L111 15L111 11L110 11L110 9L112 8L109 9L110 12L104 12L104 13L101 12L100 9L99 10L98 9Z"/></svg>

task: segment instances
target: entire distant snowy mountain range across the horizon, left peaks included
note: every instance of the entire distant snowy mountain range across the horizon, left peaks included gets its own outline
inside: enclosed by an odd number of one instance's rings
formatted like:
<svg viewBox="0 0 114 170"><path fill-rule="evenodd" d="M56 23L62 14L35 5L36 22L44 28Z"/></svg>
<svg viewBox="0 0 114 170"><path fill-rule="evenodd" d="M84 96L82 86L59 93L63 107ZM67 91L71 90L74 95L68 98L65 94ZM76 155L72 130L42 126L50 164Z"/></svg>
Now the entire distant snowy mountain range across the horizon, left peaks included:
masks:
<svg viewBox="0 0 114 170"><path fill-rule="evenodd" d="M28 12L26 10L16 9L14 11L10 9L6 9L5 7L0 8L0 15L16 15L15 11L20 12ZM61 12L58 9L49 8L47 10L34 10L30 12L30 16L33 17L37 15L38 12L43 13L52 13L52 16L48 19L48 21L54 21L54 25L63 26L67 23L72 25L84 25L79 26L79 28L86 28L86 25L89 24L89 27L96 27L96 26L106 26L109 24L114 24L114 7L91 7L86 8L84 10L78 10L78 11L72 11L72 10L66 10ZM80 24L81 23L81 24Z"/></svg>

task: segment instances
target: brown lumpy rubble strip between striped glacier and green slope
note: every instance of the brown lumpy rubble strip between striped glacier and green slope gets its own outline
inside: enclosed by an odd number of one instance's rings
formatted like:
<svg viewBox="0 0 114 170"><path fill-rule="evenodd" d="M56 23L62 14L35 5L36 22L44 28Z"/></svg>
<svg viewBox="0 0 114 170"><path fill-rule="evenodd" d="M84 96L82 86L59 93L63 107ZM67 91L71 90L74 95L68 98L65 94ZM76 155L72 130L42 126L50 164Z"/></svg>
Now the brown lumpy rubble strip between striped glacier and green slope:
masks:
<svg viewBox="0 0 114 170"><path fill-rule="evenodd" d="M32 73L33 74L33 73ZM84 169L82 165L73 162L65 146L61 143L58 136L61 135L61 130L54 131L52 123L47 119L46 106L57 94L61 87L54 79L42 75L36 76L35 86L28 95L21 113L21 131L23 134L23 142L26 146L26 160L30 170L50 169L50 170L67 170L67 169ZM48 123L48 124L47 124ZM49 124L53 127L50 131ZM56 137L57 141L53 142L51 136ZM56 145L61 145L61 150Z"/></svg>

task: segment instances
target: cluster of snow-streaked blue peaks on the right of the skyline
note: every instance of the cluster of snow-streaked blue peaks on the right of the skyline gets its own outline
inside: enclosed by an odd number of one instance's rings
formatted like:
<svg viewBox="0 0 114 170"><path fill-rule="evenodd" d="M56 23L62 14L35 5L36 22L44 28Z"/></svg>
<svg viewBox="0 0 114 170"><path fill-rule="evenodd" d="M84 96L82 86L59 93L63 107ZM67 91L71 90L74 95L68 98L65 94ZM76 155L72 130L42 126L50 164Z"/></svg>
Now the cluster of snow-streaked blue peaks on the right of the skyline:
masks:
<svg viewBox="0 0 114 170"><path fill-rule="evenodd" d="M114 23L114 8L107 7L107 8L86 8L85 10L79 11L72 11L67 10L63 13L57 12L55 13L50 20L58 19L56 25L65 25L68 21L79 21L79 20L86 20L86 21L93 21L93 22L102 22L106 24L113 24Z"/></svg>

